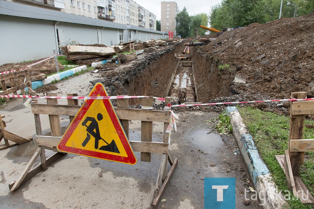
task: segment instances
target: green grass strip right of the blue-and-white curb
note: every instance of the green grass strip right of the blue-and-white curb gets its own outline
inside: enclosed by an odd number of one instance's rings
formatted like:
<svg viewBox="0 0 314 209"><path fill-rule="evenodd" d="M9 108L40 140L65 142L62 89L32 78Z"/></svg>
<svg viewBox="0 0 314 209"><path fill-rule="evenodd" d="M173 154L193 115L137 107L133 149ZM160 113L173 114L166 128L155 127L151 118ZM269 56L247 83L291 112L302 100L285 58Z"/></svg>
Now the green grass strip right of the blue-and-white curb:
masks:
<svg viewBox="0 0 314 209"><path fill-rule="evenodd" d="M288 194L288 192L284 192L284 190L289 190L287 180L275 155L283 155L284 151L288 149L290 118L284 115L263 112L251 107L238 109L264 163L267 165L275 184L278 186L278 190L282 190L283 195ZM306 120L305 124L314 125L314 121ZM303 138L314 138L314 129L305 127ZM314 152L305 153L304 164L301 165L300 169L300 177L311 194L314 195ZM285 208L314 208L296 199L287 202L288 205Z"/></svg>

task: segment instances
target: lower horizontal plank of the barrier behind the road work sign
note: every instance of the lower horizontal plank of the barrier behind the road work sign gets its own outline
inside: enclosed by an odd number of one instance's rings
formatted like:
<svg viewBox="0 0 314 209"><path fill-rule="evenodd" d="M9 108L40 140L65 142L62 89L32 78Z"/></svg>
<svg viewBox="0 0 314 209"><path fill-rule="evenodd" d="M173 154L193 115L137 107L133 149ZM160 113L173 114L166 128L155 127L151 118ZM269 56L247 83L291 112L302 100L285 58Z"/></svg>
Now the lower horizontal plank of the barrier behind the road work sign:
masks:
<svg viewBox="0 0 314 209"><path fill-rule="evenodd" d="M57 147L61 137L35 136L38 146ZM134 152L168 153L168 143L129 141Z"/></svg>

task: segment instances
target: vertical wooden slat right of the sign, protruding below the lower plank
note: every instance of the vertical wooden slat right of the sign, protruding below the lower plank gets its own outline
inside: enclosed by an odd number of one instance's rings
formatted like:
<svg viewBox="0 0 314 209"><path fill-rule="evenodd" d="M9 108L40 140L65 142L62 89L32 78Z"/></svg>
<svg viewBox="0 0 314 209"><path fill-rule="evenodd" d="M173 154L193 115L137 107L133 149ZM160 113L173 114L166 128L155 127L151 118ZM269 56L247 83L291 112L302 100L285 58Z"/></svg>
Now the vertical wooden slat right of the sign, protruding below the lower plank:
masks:
<svg viewBox="0 0 314 209"><path fill-rule="evenodd" d="M142 98L142 105L152 107L154 103L153 97L144 97ZM151 142L152 141L152 129L153 122L150 121L141 121L141 141L142 142ZM141 161L150 162L152 153L141 153Z"/></svg>

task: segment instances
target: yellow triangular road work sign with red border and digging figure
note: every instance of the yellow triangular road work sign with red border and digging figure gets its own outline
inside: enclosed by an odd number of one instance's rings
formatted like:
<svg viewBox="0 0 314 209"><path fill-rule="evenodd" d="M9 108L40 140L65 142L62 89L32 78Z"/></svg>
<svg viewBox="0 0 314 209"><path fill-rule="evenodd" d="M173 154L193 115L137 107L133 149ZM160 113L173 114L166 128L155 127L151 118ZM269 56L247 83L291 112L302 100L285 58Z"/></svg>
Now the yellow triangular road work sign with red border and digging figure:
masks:
<svg viewBox="0 0 314 209"><path fill-rule="evenodd" d="M89 94L107 96L101 83ZM135 164L136 158L109 99L87 99L58 144L61 152Z"/></svg>

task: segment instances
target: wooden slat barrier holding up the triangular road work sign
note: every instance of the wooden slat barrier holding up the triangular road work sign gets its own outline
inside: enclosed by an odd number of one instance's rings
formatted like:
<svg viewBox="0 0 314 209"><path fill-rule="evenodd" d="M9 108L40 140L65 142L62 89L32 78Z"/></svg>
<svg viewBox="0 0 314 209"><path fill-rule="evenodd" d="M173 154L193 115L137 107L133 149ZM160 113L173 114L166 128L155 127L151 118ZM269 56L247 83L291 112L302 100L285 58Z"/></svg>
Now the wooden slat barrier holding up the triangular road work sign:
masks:
<svg viewBox="0 0 314 209"><path fill-rule="evenodd" d="M57 96L56 93L47 93L47 96ZM77 94L68 94L68 96L77 96ZM166 97L165 104L170 103L170 97ZM142 98L143 106L153 106L153 98ZM134 152L141 152L141 161L150 162L151 153L161 153L162 160L160 163L157 181L154 189L151 205L156 208L161 201L161 197L165 192L171 176L177 166L177 158L173 159L168 149L169 133L165 132L171 117L169 111L160 110L139 110L128 109L128 99L117 99L116 114L122 124L122 127L129 136L129 120L141 121L141 141L129 141ZM36 143L38 149L30 162L27 164L24 171L20 174L17 180L9 184L11 191L16 190L21 184L29 180L31 177L39 173L41 170L46 170L47 165L60 158L64 153L57 150L57 145L62 138L59 115L70 116L70 121L77 114L80 106L76 99L68 99L68 105L58 105L57 99L47 99L47 104L31 104L32 113L35 117L36 126ZM42 136L40 114L49 115L51 127L51 136ZM164 135L162 142L152 142L152 122L164 123ZM53 150L56 153L46 159L45 149ZM41 164L31 169L35 160L40 156ZM167 173L167 161L171 168Z"/></svg>

